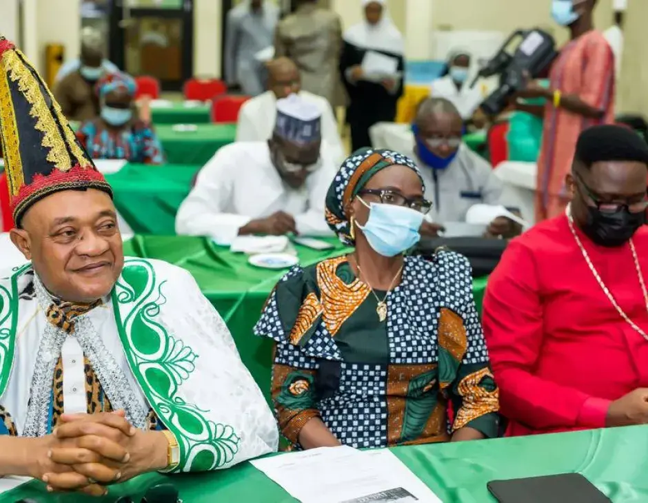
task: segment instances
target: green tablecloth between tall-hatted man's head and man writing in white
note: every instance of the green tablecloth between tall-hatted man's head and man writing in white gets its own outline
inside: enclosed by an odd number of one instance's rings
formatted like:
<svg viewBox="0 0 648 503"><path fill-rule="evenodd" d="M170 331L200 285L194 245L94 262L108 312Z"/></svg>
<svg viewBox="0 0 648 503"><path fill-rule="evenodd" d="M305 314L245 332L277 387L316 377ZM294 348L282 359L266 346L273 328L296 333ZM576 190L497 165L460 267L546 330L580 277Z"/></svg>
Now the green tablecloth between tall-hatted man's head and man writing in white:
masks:
<svg viewBox="0 0 648 503"><path fill-rule="evenodd" d="M175 234L178 207L190 192L199 165L127 164L105 178L117 211L140 234Z"/></svg>

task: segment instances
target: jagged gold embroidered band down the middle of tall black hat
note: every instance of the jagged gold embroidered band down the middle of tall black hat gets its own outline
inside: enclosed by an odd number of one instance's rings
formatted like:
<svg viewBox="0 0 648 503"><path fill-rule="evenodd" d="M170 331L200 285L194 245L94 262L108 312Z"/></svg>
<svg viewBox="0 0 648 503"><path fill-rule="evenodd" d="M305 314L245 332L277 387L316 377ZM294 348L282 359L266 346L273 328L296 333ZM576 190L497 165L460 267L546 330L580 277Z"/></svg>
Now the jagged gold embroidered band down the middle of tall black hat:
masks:
<svg viewBox="0 0 648 503"><path fill-rule="evenodd" d="M2 61L8 70L9 78L18 83L18 90L32 105L29 114L36 119L35 128L43 133L41 146L49 149L47 160L58 170L70 170L72 163L65 149L65 141L45 101L45 96L41 93L39 81L34 79L30 68L20 59L15 50L5 52Z"/></svg>

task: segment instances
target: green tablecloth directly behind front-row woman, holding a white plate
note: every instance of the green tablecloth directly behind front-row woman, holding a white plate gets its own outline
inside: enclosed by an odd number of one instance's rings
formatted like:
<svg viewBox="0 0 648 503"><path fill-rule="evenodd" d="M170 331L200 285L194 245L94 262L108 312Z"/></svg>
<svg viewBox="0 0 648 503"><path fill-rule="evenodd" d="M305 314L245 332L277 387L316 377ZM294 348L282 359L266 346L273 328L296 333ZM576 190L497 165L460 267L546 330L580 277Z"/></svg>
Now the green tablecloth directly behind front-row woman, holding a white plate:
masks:
<svg viewBox="0 0 648 503"><path fill-rule="evenodd" d="M321 252L296 245L301 265L314 264L345 250L338 240L330 238L328 241L335 246L334 250ZM225 319L241 360L270 400L272 341L255 337L252 329L261 316L265 300L285 271L254 267L247 263L244 254L234 254L207 238L135 236L125 243L124 254L166 260L190 271L203 294ZM485 285L483 279L475 282L479 306Z"/></svg>

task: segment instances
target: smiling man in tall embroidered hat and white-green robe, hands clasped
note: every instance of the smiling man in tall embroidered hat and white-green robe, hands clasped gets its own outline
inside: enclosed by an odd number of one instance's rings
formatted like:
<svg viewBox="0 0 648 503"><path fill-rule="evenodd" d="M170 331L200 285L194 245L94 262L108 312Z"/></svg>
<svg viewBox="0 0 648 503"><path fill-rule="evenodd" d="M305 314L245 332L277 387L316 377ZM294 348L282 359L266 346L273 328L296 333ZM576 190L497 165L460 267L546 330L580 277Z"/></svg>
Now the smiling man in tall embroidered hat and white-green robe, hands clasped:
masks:
<svg viewBox="0 0 648 503"><path fill-rule="evenodd" d="M183 269L124 258L112 190L0 38L0 133L30 265L0 273L0 475L105 493L276 450L261 391Z"/></svg>

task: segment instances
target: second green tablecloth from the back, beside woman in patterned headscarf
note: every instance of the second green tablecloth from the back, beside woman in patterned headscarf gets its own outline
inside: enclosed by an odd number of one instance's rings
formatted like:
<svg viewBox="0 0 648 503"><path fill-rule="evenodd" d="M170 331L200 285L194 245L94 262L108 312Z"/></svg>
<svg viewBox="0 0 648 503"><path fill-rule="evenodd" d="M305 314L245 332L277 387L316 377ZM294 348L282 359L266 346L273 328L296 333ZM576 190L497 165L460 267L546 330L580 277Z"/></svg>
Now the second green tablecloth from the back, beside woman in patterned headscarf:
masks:
<svg viewBox="0 0 648 503"><path fill-rule="evenodd" d="M233 143L236 124L197 124L198 130L174 131L174 125L156 125L166 161L170 164L205 165L216 150Z"/></svg>

